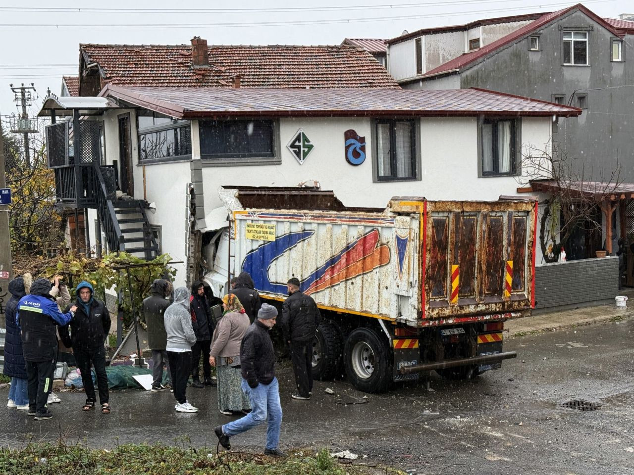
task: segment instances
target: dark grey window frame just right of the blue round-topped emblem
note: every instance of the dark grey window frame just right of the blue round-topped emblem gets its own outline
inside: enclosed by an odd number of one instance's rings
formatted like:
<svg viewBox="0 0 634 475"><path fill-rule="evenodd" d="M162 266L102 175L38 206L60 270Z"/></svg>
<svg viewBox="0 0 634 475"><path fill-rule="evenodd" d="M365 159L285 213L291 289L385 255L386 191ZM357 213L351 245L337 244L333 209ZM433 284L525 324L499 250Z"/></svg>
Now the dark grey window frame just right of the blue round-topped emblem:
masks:
<svg viewBox="0 0 634 475"><path fill-rule="evenodd" d="M378 124L391 124L390 127L390 151L395 149L394 144L396 143L396 134L394 130L396 130L396 122L410 122L412 134L411 134L411 144L412 148L411 154L411 167L413 170L413 174L411 177L394 177L390 176L381 176L378 172L378 133L377 128ZM420 181L420 169L421 169L421 148L420 148L420 120L418 118L412 117L377 117L372 119L372 181L374 183L384 183L384 182L401 182L401 181ZM396 155L390 153L390 165L392 170L396 170Z"/></svg>

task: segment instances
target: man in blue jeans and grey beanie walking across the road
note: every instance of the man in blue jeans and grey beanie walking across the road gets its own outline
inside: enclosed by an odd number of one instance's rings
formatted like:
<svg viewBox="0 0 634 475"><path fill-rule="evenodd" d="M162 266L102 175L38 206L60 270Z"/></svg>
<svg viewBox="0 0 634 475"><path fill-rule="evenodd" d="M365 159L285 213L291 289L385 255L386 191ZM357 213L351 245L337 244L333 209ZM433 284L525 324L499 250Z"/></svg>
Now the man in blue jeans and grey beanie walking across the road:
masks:
<svg viewBox="0 0 634 475"><path fill-rule="evenodd" d="M281 427L280 388L275 377L273 342L269 336L269 330L275 326L277 314L277 309L273 305L262 304L257 312L256 321L251 324L242 339L242 391L249 396L253 410L242 419L214 428L220 445L227 450L231 448L230 436L241 434L266 422L264 454L271 457L286 457L286 453L278 448Z"/></svg>

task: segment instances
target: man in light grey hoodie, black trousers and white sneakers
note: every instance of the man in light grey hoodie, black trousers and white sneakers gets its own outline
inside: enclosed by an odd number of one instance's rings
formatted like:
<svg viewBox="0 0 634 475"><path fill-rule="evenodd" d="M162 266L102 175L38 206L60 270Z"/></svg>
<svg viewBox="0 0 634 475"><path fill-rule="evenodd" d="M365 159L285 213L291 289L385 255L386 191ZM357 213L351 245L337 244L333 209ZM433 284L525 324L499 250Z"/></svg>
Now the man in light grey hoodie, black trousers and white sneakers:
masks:
<svg viewBox="0 0 634 475"><path fill-rule="evenodd" d="M164 314L167 333L167 359L172 372L172 388L177 412L198 412L185 397L187 380L191 372L191 346L196 343L196 335L191 327L190 291L179 287L174 291L174 303Z"/></svg>

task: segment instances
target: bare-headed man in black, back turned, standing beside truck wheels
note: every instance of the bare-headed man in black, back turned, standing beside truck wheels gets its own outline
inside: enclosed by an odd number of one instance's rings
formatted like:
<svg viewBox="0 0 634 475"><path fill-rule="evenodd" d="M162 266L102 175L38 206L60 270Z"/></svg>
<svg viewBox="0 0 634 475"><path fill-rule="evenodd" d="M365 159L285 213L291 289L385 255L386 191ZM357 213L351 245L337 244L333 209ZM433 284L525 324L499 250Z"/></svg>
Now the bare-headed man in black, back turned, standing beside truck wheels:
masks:
<svg viewBox="0 0 634 475"><path fill-rule="evenodd" d="M288 298L281 306L281 327L290 347L297 393L291 397L309 400L313 393L313 339L321 315L315 301L299 290L299 279L287 282Z"/></svg>

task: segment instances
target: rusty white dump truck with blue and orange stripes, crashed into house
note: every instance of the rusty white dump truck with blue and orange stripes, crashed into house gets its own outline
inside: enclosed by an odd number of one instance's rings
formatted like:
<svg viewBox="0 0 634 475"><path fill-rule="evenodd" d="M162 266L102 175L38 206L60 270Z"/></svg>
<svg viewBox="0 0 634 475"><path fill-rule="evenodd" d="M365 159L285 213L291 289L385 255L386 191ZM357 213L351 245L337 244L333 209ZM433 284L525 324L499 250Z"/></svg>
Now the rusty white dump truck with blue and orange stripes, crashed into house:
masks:
<svg viewBox="0 0 634 475"><path fill-rule="evenodd" d="M247 271L281 308L297 277L321 312L316 379L345 375L373 393L430 371L468 379L516 356L503 329L534 307L536 201L394 197L380 209L320 190L223 193L215 282Z"/></svg>

